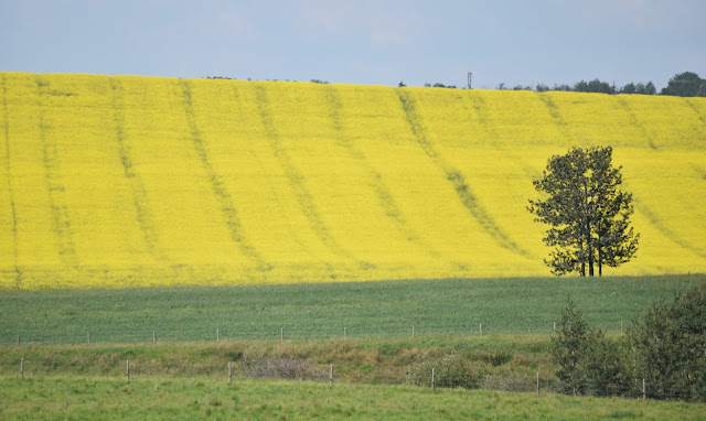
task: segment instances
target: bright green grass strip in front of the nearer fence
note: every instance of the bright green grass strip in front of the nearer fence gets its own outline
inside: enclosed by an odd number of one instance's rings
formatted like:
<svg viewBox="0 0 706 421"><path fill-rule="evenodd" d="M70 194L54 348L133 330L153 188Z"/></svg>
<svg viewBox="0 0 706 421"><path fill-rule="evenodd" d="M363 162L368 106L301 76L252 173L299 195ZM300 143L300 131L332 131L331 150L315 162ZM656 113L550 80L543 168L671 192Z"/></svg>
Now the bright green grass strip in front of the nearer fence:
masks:
<svg viewBox="0 0 706 421"><path fill-rule="evenodd" d="M243 380L0 378L0 419L699 420L704 404L403 386Z"/></svg>

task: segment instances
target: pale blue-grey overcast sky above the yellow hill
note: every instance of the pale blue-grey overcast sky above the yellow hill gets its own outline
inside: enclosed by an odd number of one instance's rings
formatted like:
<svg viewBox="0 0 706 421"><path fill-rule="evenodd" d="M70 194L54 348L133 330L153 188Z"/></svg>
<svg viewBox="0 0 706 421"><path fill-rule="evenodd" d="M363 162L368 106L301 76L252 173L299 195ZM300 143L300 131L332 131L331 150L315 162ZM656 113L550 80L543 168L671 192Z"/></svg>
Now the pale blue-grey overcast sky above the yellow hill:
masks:
<svg viewBox="0 0 706 421"><path fill-rule="evenodd" d="M0 71L495 88L706 77L704 0L0 0Z"/></svg>

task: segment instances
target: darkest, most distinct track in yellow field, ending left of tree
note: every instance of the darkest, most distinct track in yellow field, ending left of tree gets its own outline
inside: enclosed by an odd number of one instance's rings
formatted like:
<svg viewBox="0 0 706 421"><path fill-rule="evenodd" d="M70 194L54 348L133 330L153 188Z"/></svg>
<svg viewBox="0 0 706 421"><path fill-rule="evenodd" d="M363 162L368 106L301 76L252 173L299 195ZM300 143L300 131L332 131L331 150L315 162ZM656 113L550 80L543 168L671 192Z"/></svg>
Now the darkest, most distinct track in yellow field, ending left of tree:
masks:
<svg viewBox="0 0 706 421"><path fill-rule="evenodd" d="M483 228L483 230L502 248L517 255L530 256L530 252L517 246L517 244L515 244L510 236L505 234L500 226L498 226L493 217L481 206L463 174L436 151L431 142L427 139L426 131L420 121L421 117L417 114L416 102L411 94L402 88L396 89L396 93L399 97L407 121L409 122L409 128L411 129L414 139L427 156L429 156L429 159L431 159L431 161L434 161L434 163L446 174L447 181L451 183L456 190L456 194L471 216L478 220L481 228Z"/></svg>

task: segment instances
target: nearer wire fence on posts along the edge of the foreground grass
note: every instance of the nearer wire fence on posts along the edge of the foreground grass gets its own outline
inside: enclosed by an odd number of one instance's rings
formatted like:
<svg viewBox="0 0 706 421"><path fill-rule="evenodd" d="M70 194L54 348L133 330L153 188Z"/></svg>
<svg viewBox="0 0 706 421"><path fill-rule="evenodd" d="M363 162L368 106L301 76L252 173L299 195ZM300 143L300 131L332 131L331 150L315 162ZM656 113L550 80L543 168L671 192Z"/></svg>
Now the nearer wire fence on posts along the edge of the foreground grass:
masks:
<svg viewBox="0 0 706 421"><path fill-rule="evenodd" d="M116 382L139 381L154 378L213 379L237 382L243 379L272 379L311 381L312 384L367 384L388 386L417 386L431 390L442 388L481 389L492 391L564 393L573 396L622 397L633 399L689 400L683 390L664 388L648 379L634 378L621 384L599 382L592 379L574 379L571 384L559 381L550 373L468 373L449 367L410 366L404 373L381 374L357 379L349 373L339 373L333 364L310 365L292 358L243 358L238 361L183 364L179 361L154 361L145 358L115 360L99 367L85 363L0 360L0 375L20 379L36 379L53 376L99 376Z"/></svg>

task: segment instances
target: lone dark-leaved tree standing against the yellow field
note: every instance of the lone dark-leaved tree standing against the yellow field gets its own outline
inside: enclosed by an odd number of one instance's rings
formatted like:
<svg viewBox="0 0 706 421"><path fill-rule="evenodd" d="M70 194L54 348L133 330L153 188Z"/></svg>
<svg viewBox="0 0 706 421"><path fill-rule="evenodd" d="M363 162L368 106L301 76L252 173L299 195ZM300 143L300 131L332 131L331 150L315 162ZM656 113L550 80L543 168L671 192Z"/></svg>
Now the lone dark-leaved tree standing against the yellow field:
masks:
<svg viewBox="0 0 706 421"><path fill-rule="evenodd" d="M639 234L630 227L632 194L620 191L622 166L612 166L612 148L574 148L549 159L542 180L534 181L546 199L530 201L535 222L549 225L544 242L555 247L544 262L552 273L602 276L635 255Z"/></svg>

